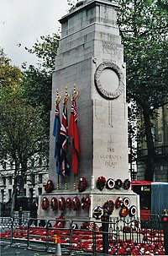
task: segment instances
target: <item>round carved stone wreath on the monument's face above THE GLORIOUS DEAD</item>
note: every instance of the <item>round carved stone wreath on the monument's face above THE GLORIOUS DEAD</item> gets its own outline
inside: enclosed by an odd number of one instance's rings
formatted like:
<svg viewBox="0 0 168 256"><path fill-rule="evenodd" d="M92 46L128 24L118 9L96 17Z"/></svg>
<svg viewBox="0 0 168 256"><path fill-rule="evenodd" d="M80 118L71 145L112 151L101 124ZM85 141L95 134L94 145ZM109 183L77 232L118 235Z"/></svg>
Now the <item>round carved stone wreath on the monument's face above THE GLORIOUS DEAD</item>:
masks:
<svg viewBox="0 0 168 256"><path fill-rule="evenodd" d="M103 84L101 83L101 75L102 71L104 69L108 69L110 71L113 71L118 76L118 88L114 91L108 91L105 88L103 88ZM112 62L103 62L101 63L95 72L94 75L95 85L97 87L97 91L100 95L102 95L103 98L106 98L108 100L113 100L118 98L119 95L123 92L123 73L121 69ZM113 82L112 82L113 83Z"/></svg>

